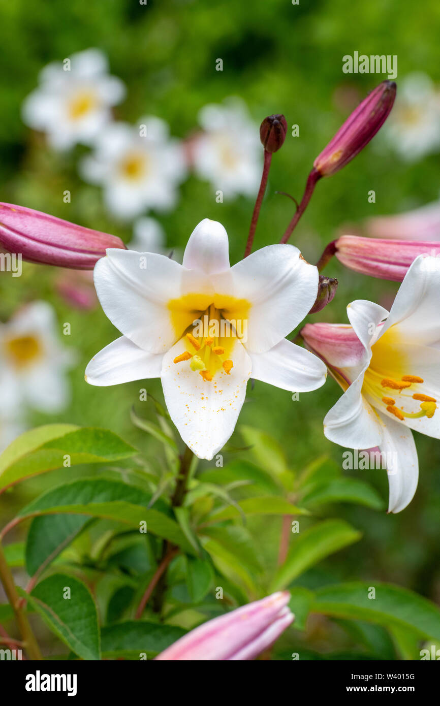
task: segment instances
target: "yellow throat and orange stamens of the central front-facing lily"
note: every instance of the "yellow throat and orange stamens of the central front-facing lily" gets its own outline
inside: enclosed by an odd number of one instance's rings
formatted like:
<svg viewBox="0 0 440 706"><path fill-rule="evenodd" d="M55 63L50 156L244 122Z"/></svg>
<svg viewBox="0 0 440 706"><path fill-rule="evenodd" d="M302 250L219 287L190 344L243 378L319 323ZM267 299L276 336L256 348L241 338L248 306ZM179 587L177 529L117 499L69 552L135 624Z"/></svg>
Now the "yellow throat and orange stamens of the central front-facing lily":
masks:
<svg viewBox="0 0 440 706"><path fill-rule="evenodd" d="M168 304L177 337L186 332L186 350L174 358L174 363L189 361L191 371L198 372L206 382L221 371L230 375L234 367L232 349L237 339L247 339L251 306L244 299L216 295L213 304L202 308L209 299L205 294L187 294Z"/></svg>

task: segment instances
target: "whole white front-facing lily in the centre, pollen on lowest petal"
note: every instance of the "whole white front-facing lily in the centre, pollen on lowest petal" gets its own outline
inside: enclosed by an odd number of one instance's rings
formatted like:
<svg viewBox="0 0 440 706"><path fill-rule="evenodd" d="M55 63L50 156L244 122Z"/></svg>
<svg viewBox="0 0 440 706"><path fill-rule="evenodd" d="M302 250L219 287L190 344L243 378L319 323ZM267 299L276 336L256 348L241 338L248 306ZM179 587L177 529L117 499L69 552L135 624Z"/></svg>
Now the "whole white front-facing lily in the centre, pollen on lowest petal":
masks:
<svg viewBox="0 0 440 706"><path fill-rule="evenodd" d="M211 459L230 438L252 376L282 390L323 385L326 366L285 340L316 299L318 271L292 245L270 245L233 267L227 233L198 224L183 265L108 249L95 287L123 334L87 366L92 385L161 378L184 442Z"/></svg>

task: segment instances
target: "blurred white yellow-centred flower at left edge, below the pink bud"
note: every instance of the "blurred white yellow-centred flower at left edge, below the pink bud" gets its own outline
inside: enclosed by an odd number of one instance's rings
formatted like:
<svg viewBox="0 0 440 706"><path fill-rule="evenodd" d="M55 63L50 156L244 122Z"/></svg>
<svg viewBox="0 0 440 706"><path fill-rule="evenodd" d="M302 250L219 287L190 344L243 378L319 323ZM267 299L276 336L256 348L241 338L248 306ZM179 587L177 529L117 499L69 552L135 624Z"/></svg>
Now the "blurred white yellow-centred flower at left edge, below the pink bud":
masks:
<svg viewBox="0 0 440 706"><path fill-rule="evenodd" d="M73 351L61 345L54 309L46 301L23 306L0 325L1 414L14 417L29 406L58 412L69 402L66 369Z"/></svg>

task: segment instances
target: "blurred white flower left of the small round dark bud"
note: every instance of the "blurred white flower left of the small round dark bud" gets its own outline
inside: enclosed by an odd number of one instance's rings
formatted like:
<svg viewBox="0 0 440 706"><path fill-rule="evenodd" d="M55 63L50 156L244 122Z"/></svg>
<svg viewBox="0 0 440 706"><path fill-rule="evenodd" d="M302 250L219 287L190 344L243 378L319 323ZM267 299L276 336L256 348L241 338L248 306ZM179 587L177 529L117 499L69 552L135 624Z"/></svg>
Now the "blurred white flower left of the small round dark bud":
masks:
<svg viewBox="0 0 440 706"><path fill-rule="evenodd" d="M259 128L246 105L229 98L208 104L198 114L203 133L194 139L192 160L196 174L210 181L224 196L255 196L261 179L263 149Z"/></svg>

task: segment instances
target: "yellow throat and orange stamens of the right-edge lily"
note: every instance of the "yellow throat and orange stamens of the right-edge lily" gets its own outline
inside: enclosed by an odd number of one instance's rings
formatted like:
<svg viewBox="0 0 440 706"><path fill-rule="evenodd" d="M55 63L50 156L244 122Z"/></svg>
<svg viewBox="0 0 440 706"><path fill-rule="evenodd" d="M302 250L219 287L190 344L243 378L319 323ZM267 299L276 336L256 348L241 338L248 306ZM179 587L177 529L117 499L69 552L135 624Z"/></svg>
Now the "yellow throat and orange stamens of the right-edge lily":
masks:
<svg viewBox="0 0 440 706"><path fill-rule="evenodd" d="M399 421L420 417L431 419L437 408L437 400L422 391L423 378L408 373L408 361L399 349L396 329L388 329L371 346L371 352L372 357L364 375L362 392L374 397L375 406L380 409L383 405L386 411ZM415 411L408 412L405 407Z"/></svg>

